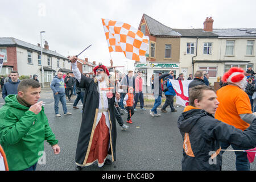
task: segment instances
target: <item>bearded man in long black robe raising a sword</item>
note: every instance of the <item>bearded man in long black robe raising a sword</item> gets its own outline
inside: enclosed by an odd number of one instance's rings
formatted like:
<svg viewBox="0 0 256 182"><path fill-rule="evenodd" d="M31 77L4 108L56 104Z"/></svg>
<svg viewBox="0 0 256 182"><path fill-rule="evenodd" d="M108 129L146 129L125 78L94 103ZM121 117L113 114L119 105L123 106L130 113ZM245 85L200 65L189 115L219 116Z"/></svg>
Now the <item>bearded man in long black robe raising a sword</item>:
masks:
<svg viewBox="0 0 256 182"><path fill-rule="evenodd" d="M77 57L69 57L77 86L85 88L82 108L82 123L76 148L77 169L98 163L98 167L111 164L116 160L115 144L117 129L115 125L114 102L118 102L119 93L108 94L108 69L98 65L93 69L95 79L85 77L77 68ZM108 159L112 155L112 160Z"/></svg>

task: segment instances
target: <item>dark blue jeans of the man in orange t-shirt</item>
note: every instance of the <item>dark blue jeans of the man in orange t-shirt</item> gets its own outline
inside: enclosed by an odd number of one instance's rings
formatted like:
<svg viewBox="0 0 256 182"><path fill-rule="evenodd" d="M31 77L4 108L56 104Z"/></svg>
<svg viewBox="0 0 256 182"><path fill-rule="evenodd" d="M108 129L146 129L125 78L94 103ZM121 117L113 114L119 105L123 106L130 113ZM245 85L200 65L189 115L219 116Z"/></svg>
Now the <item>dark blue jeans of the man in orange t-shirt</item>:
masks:
<svg viewBox="0 0 256 182"><path fill-rule="evenodd" d="M221 149L226 149L230 146L230 143L220 142ZM249 148L239 148L233 144L231 144L232 148L234 150L248 150ZM224 151L221 151L221 154L223 154ZM236 158L236 169L237 171L250 171L250 163L247 159L247 153L246 152L235 152L237 158Z"/></svg>

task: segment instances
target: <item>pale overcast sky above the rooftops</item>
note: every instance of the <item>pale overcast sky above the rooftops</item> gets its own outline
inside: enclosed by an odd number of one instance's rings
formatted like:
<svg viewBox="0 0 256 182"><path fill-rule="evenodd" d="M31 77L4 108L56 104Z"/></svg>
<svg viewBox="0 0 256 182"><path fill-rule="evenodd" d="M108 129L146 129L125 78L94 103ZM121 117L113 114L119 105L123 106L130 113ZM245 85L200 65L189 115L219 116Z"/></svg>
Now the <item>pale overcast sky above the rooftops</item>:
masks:
<svg viewBox="0 0 256 182"><path fill-rule="evenodd" d="M37 45L40 31L49 49L63 56L110 65L110 53L101 18L138 28L143 13L171 28L203 28L207 16L213 28L256 28L254 0L0 0L0 37ZM122 53L111 53L114 65L126 65ZM134 61L128 60L128 63ZM130 64L129 64L130 65Z"/></svg>

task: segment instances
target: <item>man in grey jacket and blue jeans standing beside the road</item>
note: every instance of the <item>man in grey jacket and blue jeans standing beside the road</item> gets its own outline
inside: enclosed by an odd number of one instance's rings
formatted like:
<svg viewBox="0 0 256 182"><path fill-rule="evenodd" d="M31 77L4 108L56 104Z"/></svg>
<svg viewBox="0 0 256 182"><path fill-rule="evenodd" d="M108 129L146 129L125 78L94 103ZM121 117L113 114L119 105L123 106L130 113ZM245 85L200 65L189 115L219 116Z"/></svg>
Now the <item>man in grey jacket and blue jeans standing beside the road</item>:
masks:
<svg viewBox="0 0 256 182"><path fill-rule="evenodd" d="M60 117L59 114L59 101L63 106L64 115L71 115L72 113L68 112L66 98L65 98L65 86L63 80L63 73L58 72L57 76L53 78L51 83L51 89L54 97L54 110L56 117Z"/></svg>

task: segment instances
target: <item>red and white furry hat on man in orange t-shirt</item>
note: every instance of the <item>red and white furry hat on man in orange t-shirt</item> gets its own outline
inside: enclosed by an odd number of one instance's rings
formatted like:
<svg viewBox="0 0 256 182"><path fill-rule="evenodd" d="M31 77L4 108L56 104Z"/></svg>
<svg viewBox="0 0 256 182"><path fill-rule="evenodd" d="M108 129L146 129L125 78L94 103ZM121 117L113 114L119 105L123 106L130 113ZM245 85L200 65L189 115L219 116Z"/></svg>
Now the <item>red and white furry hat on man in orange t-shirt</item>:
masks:
<svg viewBox="0 0 256 182"><path fill-rule="evenodd" d="M232 67L228 72L224 73L222 81L236 84L243 90L245 90L247 85L245 71L238 67Z"/></svg>

